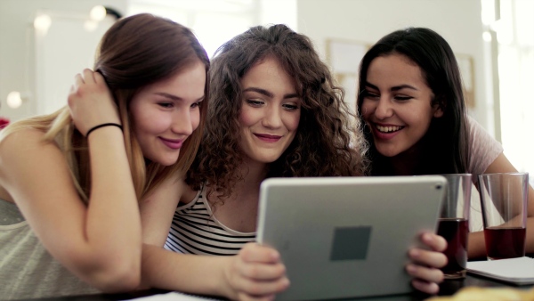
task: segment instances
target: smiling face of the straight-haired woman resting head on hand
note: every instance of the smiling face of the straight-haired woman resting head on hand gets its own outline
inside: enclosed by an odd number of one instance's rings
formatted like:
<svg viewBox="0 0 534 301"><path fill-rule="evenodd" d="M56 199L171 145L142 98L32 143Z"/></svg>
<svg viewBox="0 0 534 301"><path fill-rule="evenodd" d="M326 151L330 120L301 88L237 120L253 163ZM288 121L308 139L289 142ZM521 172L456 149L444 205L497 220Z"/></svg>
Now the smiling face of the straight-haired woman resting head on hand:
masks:
<svg viewBox="0 0 534 301"><path fill-rule="evenodd" d="M206 68L198 61L134 95L130 111L145 159L164 166L178 160L183 142L198 126L205 84Z"/></svg>

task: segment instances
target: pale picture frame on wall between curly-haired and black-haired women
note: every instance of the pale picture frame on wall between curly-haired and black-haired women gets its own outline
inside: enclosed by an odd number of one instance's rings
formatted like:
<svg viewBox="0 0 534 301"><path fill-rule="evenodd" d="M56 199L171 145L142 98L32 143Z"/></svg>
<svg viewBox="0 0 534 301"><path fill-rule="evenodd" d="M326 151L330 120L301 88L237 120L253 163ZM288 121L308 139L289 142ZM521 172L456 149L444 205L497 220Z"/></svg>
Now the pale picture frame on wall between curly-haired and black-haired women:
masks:
<svg viewBox="0 0 534 301"><path fill-rule="evenodd" d="M344 102L352 111L356 110L360 61L368 49L367 43L359 41L335 38L327 40L328 64L338 85L344 88Z"/></svg>

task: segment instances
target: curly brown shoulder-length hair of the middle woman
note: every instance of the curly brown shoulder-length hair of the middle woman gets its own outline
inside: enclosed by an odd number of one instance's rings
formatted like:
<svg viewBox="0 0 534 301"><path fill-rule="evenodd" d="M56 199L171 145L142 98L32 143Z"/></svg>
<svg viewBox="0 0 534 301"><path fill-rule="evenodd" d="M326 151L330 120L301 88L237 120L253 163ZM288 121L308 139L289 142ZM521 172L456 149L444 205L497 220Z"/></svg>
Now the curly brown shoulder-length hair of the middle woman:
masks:
<svg viewBox="0 0 534 301"><path fill-rule="evenodd" d="M279 61L295 78L301 98L301 118L294 141L270 164L267 177L350 176L365 174L367 144L360 122L344 103L344 90L336 86L328 66L320 60L310 38L279 24L257 26L222 45L210 69L210 106L198 154L186 183L228 197L239 171L239 112L243 99L241 78L266 57Z"/></svg>

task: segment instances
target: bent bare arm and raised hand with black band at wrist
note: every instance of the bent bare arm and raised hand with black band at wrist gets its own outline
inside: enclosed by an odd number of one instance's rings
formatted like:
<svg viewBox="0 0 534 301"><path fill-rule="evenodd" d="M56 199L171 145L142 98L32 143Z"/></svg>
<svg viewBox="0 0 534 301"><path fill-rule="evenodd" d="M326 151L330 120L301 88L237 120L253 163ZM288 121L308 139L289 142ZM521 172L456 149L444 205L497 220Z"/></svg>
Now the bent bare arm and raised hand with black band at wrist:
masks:
<svg viewBox="0 0 534 301"><path fill-rule="evenodd" d="M103 78L77 75L69 109L77 128L119 123ZM125 144L116 126L88 139L92 187L80 199L67 160L44 133L28 129L0 145L0 184L50 254L104 291L134 289L141 278L141 220Z"/></svg>

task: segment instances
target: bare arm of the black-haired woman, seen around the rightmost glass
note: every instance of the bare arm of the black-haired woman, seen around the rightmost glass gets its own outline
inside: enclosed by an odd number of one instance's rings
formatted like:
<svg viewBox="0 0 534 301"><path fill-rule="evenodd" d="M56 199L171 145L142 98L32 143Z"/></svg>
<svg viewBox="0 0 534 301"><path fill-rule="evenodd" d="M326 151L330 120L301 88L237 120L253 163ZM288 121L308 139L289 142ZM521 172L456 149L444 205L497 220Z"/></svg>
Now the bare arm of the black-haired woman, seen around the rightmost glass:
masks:
<svg viewBox="0 0 534 301"><path fill-rule="evenodd" d="M486 174L510 172L517 172L517 169L515 169L512 163L510 163L504 153L498 155L497 159L495 159L485 171ZM528 202L526 251L527 253L534 253L534 190L530 185ZM486 242L484 240L484 232L469 233L469 241L467 246L468 257L470 259L485 257Z"/></svg>

